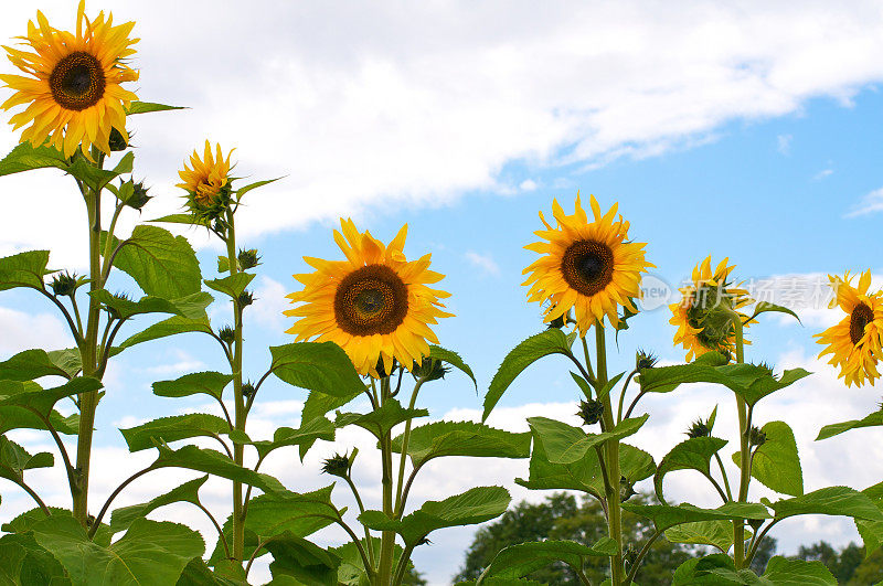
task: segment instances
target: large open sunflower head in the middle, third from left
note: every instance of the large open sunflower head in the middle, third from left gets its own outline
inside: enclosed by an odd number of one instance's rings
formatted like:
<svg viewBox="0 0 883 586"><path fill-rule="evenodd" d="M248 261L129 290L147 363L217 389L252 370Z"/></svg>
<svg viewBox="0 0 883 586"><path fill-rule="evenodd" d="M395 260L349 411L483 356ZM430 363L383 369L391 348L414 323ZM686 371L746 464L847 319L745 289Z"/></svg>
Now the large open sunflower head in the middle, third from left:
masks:
<svg viewBox="0 0 883 586"><path fill-rule="evenodd" d="M351 220L341 219L340 226L334 242L347 260L304 257L316 270L294 275L304 290L287 296L300 305L285 311L299 318L286 333L337 343L360 374L376 377L379 363L389 373L393 359L408 370L419 365L429 354L427 340L438 343L428 324L451 316L438 301L450 294L427 287L444 275L429 270L432 255L405 258L407 225L389 246Z"/></svg>

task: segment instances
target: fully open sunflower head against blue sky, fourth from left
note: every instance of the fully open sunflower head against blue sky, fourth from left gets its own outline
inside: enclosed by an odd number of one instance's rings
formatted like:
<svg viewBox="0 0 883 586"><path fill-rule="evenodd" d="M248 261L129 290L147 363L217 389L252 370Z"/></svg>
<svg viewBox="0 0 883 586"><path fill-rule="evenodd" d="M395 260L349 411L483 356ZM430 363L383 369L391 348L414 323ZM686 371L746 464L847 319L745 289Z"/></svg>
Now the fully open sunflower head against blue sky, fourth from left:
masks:
<svg viewBox="0 0 883 586"><path fill-rule="evenodd" d="M606 214L594 195L591 204L592 222L579 203L579 192L573 215L566 215L557 200L552 202L555 227L540 212L545 230L534 234L543 242L524 248L543 256L522 271L530 273L523 283L530 285L528 299L550 302L543 320L551 322L573 308L581 335L593 323L602 323L604 316L618 326L619 306L636 312L632 299L640 295L641 273L655 266L643 259L645 243L628 241L628 222L621 215L616 219L618 204Z"/></svg>

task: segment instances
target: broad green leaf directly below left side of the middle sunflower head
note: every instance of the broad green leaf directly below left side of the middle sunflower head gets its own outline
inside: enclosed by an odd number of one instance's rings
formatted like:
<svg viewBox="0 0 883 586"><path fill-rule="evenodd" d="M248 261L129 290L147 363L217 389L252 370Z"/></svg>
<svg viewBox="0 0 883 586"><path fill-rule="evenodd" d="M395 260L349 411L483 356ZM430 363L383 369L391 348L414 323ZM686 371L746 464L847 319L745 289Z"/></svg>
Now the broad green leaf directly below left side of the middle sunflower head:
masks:
<svg viewBox="0 0 883 586"><path fill-rule="evenodd" d="M333 342L295 342L269 348L273 374L286 383L338 397L364 391L350 358Z"/></svg>

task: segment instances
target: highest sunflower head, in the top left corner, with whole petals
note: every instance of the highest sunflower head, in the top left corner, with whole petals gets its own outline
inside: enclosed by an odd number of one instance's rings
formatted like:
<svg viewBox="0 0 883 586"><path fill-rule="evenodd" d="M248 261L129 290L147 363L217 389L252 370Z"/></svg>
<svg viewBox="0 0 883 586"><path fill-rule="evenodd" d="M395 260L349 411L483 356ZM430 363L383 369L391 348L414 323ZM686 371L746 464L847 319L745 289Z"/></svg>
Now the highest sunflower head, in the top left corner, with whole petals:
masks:
<svg viewBox="0 0 883 586"><path fill-rule="evenodd" d="M8 110L30 105L10 119L13 129L31 124L21 134L21 142L39 147L46 141L71 157L79 147L91 158L95 146L110 153L111 129L128 143L126 107L138 96L120 84L138 79L138 72L125 60L135 54L129 39L135 26L127 22L114 26L113 14L104 12L95 20L85 15L85 1L76 14L76 34L50 26L42 12L38 25L28 22L28 36L21 36L33 52L9 46L8 57L19 70L30 75L0 75L6 87L15 93L0 108Z"/></svg>

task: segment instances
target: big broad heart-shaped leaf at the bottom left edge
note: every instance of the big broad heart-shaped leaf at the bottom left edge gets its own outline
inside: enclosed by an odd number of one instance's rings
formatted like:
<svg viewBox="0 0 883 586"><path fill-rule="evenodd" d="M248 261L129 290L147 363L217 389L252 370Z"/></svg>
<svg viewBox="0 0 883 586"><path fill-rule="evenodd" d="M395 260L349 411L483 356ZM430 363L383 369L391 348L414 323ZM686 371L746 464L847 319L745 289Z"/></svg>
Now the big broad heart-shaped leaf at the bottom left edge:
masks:
<svg viewBox="0 0 883 586"><path fill-rule="evenodd" d="M65 567L74 586L174 584L205 551L195 531L177 523L136 520L109 546L89 541L72 516L51 516L33 528L36 542Z"/></svg>

